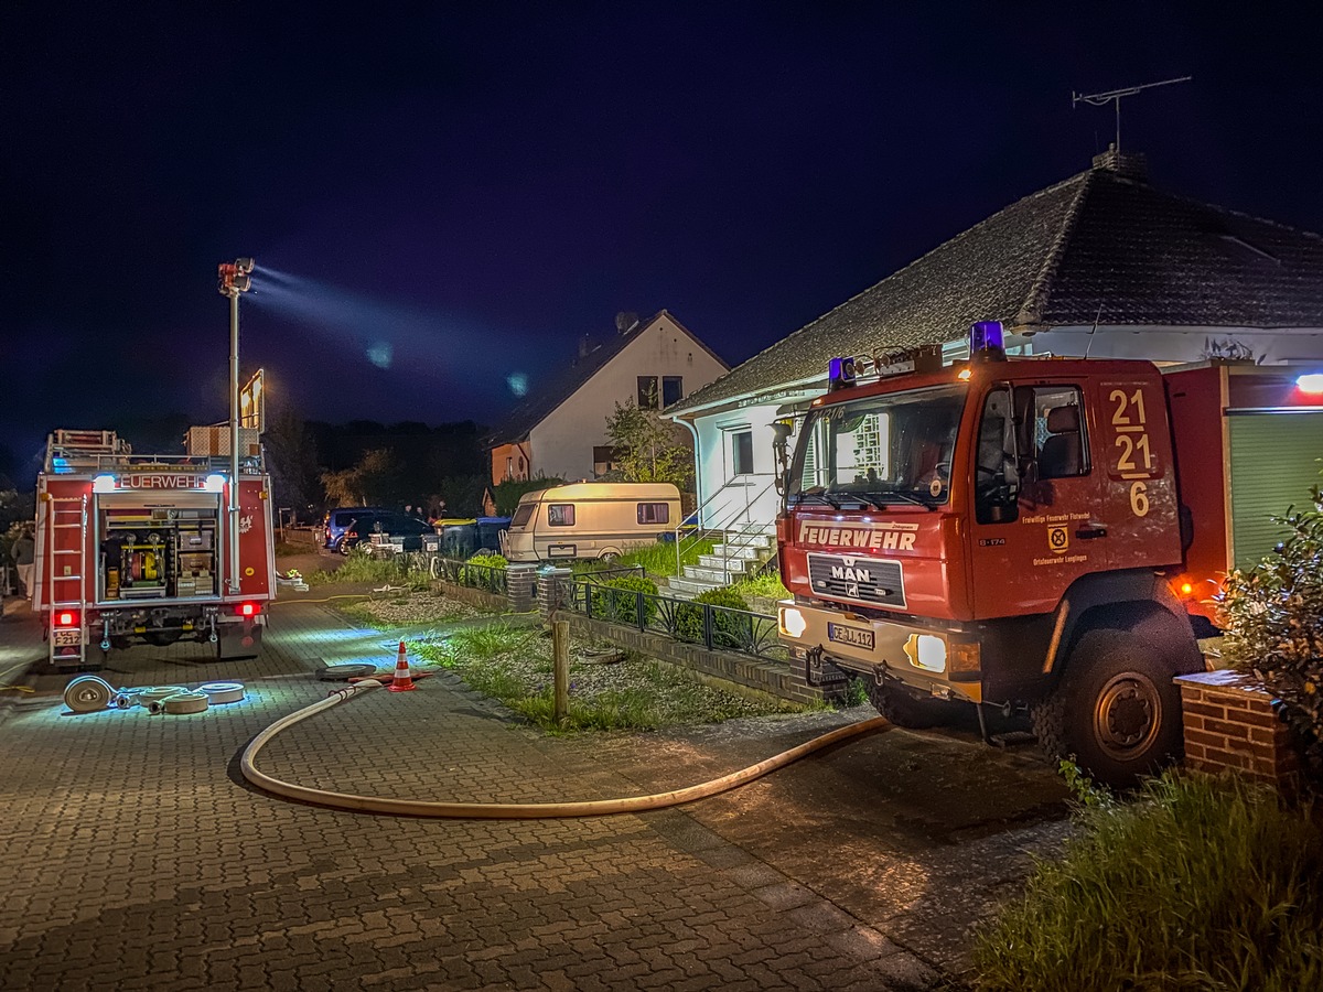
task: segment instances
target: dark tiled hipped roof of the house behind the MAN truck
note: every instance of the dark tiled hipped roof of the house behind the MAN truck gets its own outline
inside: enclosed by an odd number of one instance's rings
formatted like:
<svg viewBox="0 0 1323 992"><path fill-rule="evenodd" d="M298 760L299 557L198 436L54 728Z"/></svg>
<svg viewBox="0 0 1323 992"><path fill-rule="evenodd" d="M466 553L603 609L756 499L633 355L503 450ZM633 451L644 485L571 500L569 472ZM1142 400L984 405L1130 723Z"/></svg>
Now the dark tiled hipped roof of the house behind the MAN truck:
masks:
<svg viewBox="0 0 1323 992"><path fill-rule="evenodd" d="M1049 327L1323 327L1323 237L1172 196L1142 156L1007 206L668 409L826 377L839 354Z"/></svg>

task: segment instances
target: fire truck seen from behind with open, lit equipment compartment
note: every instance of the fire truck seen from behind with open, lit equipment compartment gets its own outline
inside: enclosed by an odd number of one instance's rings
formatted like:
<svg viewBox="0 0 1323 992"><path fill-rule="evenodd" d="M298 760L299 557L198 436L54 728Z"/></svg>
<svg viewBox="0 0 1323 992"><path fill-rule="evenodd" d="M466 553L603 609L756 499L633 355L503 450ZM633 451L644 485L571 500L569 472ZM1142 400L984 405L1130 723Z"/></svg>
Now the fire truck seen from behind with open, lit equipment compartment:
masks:
<svg viewBox="0 0 1323 992"><path fill-rule="evenodd" d="M271 480L255 431L241 431L241 451L254 436L232 512L232 458L202 440L216 430L192 429L187 450L205 454L185 455L139 455L105 430L48 438L33 610L54 668L95 671L112 648L181 638L221 659L261 651L275 593Z"/></svg>

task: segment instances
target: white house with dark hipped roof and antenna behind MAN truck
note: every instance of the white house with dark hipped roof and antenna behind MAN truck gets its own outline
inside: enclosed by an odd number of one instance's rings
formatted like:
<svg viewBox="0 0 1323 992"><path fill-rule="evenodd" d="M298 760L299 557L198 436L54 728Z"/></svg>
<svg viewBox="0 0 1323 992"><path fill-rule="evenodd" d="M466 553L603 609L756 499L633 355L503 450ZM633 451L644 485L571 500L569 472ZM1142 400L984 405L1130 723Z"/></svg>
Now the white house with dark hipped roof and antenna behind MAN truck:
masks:
<svg viewBox="0 0 1323 992"><path fill-rule="evenodd" d="M958 361L976 320L1002 320L1020 354L1323 360L1323 237L1160 192L1142 155L1099 155L668 407L695 434L703 524L770 526L773 425L802 418L832 357L933 345Z"/></svg>

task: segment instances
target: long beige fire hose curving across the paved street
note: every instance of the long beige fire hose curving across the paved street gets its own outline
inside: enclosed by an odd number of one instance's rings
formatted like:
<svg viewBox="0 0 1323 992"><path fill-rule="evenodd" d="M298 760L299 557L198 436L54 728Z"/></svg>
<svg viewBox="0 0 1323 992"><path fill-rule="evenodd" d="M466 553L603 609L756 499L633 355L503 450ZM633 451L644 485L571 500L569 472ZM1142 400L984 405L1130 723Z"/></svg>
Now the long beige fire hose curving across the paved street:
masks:
<svg viewBox="0 0 1323 992"><path fill-rule="evenodd" d="M556 816L610 816L613 813L636 813L644 809L664 809L681 803L692 803L695 799L706 799L720 792L726 792L738 786L762 778L767 772L783 768L791 762L831 747L840 741L865 734L880 734L892 729L892 725L882 717L873 717L859 723L837 727L828 734L806 741L798 747L773 755L766 761L750 765L747 768L733 771L718 779L703 782L688 788L677 788L671 792L658 792L650 796L628 796L626 799L591 799L577 803L446 803L426 799L384 799L378 796L360 796L348 792L328 792L308 786L298 786L292 782L283 782L257 770L257 755L277 734L294 726L300 720L307 720L315 713L329 709L360 692L380 689L381 682L368 680L348 689L337 689L328 698L295 710L287 717L282 717L271 723L266 730L253 738L243 750L239 767L243 778L258 788L288 799L298 799L314 806L325 806L333 809L355 809L368 813L389 813L394 816L426 816L433 819L471 819L471 820L540 820Z"/></svg>

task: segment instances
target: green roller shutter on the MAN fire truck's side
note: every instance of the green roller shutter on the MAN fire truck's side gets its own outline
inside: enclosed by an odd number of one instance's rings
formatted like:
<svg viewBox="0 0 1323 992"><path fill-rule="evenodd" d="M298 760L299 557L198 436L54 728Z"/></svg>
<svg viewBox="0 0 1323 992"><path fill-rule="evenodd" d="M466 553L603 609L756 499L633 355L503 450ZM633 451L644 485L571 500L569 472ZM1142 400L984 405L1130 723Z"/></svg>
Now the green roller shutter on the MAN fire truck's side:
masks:
<svg viewBox="0 0 1323 992"><path fill-rule="evenodd" d="M1311 505L1323 481L1323 413L1246 413L1230 430L1232 549L1237 569L1256 565L1286 536L1271 517Z"/></svg>

